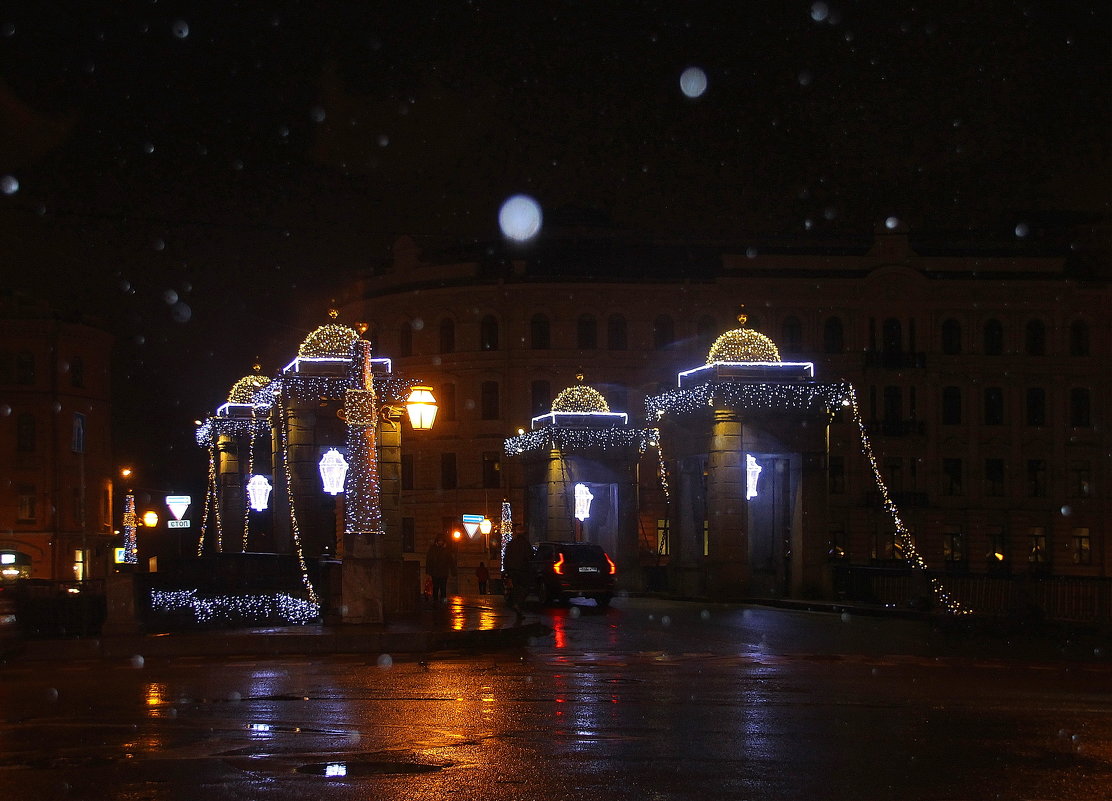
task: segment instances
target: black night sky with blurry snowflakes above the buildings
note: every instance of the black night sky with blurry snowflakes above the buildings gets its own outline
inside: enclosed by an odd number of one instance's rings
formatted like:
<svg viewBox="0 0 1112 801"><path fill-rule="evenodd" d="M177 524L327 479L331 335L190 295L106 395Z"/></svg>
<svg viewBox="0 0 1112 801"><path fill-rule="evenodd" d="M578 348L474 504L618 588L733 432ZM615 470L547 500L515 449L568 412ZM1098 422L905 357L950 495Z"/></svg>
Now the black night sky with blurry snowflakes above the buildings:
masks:
<svg viewBox="0 0 1112 801"><path fill-rule="evenodd" d="M0 10L0 287L118 334L118 461L197 468L329 281L516 192L652 238L1108 233L1108 2L386 7Z"/></svg>

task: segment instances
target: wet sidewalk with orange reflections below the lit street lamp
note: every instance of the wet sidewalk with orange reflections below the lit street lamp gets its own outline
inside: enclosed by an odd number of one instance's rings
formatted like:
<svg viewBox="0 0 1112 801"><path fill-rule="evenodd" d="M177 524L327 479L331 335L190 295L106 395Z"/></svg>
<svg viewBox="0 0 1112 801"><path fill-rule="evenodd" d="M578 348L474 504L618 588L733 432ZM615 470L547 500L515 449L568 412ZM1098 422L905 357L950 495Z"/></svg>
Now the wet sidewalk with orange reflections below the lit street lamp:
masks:
<svg viewBox="0 0 1112 801"><path fill-rule="evenodd" d="M444 606L390 615L383 624L308 624L19 640L4 649L2 661L427 653L502 647L543 636L548 631L536 615L518 616L499 595L454 595Z"/></svg>

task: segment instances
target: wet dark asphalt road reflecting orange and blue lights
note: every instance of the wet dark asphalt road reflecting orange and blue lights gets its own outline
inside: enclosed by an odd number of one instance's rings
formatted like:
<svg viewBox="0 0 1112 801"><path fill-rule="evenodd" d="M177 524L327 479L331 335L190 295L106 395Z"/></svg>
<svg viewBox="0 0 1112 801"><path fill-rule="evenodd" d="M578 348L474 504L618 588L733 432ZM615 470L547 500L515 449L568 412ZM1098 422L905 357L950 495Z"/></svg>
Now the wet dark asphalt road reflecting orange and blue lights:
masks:
<svg viewBox="0 0 1112 801"><path fill-rule="evenodd" d="M1099 640L619 599L525 647L0 668L0 798L1109 799Z"/></svg>

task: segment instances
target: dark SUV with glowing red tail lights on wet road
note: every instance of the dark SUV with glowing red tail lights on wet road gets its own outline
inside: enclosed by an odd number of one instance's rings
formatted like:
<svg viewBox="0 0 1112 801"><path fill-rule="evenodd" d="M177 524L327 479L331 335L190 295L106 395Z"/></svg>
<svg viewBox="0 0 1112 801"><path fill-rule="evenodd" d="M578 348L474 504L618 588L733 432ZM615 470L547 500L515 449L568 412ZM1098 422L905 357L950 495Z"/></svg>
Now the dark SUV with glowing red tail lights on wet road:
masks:
<svg viewBox="0 0 1112 801"><path fill-rule="evenodd" d="M599 606L606 606L614 597L617 566L602 547L593 543L537 543L533 573L537 596L543 604L588 597Z"/></svg>

